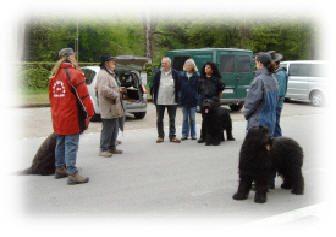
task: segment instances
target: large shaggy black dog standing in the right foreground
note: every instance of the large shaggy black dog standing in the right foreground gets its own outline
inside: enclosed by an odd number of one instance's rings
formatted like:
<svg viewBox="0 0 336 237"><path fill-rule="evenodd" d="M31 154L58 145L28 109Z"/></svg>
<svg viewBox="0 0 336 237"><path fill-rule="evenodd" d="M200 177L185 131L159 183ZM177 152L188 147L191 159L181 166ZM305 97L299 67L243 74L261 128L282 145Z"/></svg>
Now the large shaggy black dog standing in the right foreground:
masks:
<svg viewBox="0 0 336 237"><path fill-rule="evenodd" d="M255 184L254 201L266 202L266 192L277 171L282 177L282 189L291 189L292 194L302 195L303 151L300 145L288 137L272 138L267 127L251 128L239 153L239 185L234 200L246 200Z"/></svg>

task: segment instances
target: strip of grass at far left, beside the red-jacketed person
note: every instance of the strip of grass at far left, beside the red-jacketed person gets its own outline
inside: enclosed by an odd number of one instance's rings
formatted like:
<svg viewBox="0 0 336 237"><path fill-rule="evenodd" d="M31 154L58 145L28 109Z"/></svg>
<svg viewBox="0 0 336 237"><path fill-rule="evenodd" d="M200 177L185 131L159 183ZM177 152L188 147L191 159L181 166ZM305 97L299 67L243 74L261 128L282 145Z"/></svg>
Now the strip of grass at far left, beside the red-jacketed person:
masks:
<svg viewBox="0 0 336 237"><path fill-rule="evenodd" d="M30 103L49 103L48 88L44 89L28 89L19 90L19 98L22 104Z"/></svg>

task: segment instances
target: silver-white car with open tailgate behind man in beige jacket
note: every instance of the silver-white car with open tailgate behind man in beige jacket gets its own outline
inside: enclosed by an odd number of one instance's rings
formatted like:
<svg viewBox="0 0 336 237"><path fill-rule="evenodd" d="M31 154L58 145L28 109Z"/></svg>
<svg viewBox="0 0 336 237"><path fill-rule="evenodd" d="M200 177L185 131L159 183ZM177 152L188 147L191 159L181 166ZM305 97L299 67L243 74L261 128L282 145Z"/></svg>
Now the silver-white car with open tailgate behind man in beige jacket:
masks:
<svg viewBox="0 0 336 237"><path fill-rule="evenodd" d="M119 56L120 57L120 56ZM117 57L118 59L118 57ZM131 67L118 65L122 60L117 60L116 77L120 83L120 88L125 88L126 93L122 95L123 104L126 109L126 115L133 114L135 118L142 119L147 113L147 91L142 83L140 73L137 70L132 70ZM123 62L126 62L124 60ZM81 67L86 78L86 83L89 90L89 95L93 99L94 116L92 121L100 121L100 111L98 97L95 90L97 83L99 66L84 66Z"/></svg>

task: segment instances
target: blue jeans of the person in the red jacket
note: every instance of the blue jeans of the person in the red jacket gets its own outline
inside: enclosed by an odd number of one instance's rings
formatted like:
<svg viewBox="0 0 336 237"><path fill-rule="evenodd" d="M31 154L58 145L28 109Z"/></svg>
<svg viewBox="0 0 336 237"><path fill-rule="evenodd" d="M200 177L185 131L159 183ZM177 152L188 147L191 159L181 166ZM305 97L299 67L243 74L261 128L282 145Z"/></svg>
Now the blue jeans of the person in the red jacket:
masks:
<svg viewBox="0 0 336 237"><path fill-rule="evenodd" d="M76 160L78 151L79 134L56 135L55 166L66 166L68 174L77 171Z"/></svg>

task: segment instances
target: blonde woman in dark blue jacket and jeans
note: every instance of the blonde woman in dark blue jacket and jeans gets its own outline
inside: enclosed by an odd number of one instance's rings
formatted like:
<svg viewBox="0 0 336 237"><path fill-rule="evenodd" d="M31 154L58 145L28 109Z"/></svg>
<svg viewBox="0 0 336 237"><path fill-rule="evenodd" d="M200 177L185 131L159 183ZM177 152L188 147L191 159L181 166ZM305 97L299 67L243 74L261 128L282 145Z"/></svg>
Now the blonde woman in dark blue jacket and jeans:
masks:
<svg viewBox="0 0 336 237"><path fill-rule="evenodd" d="M187 140L189 130L191 139L196 140L195 113L198 104L198 69L193 59L188 59L183 65L183 73L180 77L181 106L183 113L182 138Z"/></svg>

